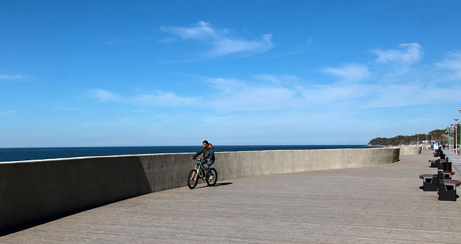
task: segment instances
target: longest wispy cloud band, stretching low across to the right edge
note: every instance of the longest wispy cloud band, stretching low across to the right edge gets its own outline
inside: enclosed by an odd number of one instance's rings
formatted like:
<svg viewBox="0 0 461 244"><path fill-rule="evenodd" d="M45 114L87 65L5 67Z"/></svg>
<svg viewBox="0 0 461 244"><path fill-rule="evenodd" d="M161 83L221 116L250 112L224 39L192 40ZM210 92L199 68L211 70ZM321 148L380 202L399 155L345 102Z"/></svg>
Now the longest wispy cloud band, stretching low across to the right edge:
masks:
<svg viewBox="0 0 461 244"><path fill-rule="evenodd" d="M346 76L349 77L349 76ZM97 89L93 97L101 102L122 102L133 109L206 106L211 113L302 111L305 109L339 109L404 107L430 105L433 94L444 94L439 102L456 102L461 84L451 87L430 82L335 82L318 84L294 76L259 75L254 79L208 78L205 98L182 96L171 91L153 91L136 96L120 96Z"/></svg>

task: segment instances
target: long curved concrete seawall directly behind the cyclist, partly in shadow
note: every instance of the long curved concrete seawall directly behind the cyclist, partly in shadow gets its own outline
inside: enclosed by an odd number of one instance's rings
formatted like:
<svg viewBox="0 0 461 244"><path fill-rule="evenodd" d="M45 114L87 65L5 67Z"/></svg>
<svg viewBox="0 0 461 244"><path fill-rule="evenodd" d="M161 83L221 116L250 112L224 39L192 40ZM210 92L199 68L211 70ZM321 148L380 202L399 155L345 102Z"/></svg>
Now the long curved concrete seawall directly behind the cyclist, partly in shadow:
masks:
<svg viewBox="0 0 461 244"><path fill-rule="evenodd" d="M193 153L0 163L0 230L54 215L180 188ZM382 165L399 148L216 153L218 181L294 171Z"/></svg>

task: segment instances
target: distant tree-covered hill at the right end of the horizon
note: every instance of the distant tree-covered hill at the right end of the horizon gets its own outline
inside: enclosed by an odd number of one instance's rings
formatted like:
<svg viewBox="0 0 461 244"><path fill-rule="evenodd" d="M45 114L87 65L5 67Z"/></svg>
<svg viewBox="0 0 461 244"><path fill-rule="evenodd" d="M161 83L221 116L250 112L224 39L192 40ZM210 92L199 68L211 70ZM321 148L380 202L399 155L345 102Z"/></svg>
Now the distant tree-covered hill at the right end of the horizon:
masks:
<svg viewBox="0 0 461 244"><path fill-rule="evenodd" d="M459 132L460 130L458 130ZM441 141L443 140L442 135L446 134L446 130L432 130L427 134L419 135L397 135L397 137L383 138L376 137L369 141L369 146L399 146L399 145L414 145L418 142L428 141ZM459 134L458 134L459 135ZM427 136L427 137L426 137Z"/></svg>

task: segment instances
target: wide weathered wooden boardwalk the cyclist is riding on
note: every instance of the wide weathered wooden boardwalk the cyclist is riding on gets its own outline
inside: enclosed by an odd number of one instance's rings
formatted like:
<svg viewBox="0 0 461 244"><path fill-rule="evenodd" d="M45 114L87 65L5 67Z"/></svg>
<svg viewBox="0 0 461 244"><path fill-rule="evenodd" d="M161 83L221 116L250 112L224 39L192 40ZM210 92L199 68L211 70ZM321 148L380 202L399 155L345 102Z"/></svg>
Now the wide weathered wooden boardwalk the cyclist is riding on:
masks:
<svg viewBox="0 0 461 244"><path fill-rule="evenodd" d="M461 199L439 201L437 192L420 189L420 174L437 173L430 159L423 151L390 165L155 192L0 243L460 243ZM461 180L458 172L453 178Z"/></svg>

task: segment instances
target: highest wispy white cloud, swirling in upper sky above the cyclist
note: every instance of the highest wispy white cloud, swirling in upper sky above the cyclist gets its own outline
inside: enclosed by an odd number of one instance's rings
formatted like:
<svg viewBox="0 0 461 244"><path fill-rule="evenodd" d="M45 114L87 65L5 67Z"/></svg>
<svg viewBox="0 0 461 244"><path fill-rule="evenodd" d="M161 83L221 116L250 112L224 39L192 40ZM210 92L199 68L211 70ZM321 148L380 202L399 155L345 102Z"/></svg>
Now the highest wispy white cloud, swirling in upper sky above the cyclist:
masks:
<svg viewBox="0 0 461 244"><path fill-rule="evenodd" d="M201 56L205 59L231 56L250 56L267 52L272 48L272 34L257 40L247 40L230 29L216 29L209 22L200 21L192 27L161 26L163 31L179 36L182 40L196 40L205 46ZM176 38L163 38L161 43L173 43Z"/></svg>

